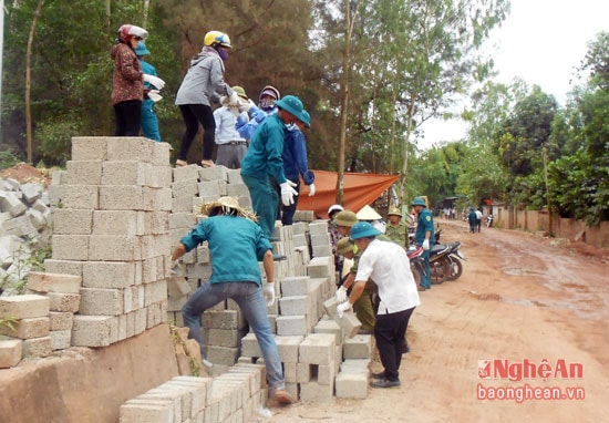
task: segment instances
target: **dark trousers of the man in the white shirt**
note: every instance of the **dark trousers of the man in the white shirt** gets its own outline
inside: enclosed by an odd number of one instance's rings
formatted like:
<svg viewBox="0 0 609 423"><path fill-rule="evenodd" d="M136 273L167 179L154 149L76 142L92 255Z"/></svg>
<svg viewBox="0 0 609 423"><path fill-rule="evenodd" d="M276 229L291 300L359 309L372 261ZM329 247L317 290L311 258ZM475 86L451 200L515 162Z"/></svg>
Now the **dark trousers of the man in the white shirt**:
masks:
<svg viewBox="0 0 609 423"><path fill-rule="evenodd" d="M395 313L376 314L376 324L374 326L374 338L376 348L381 355L381 363L385 369L385 379L396 381L400 379L400 364L402 363L402 349L406 338L409 320L414 311L407 309Z"/></svg>

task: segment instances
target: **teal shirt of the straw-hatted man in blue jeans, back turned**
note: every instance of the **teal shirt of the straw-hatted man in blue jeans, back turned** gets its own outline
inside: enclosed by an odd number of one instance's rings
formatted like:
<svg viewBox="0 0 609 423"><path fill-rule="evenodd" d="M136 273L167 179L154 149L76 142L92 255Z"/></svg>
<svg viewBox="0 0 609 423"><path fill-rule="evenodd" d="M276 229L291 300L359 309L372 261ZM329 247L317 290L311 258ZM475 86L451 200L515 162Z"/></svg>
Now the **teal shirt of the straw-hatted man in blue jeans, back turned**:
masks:
<svg viewBox="0 0 609 423"><path fill-rule="evenodd" d="M258 224L244 217L213 216L203 219L180 240L186 251L204 241L211 256L210 283L249 281L261 285L258 261L272 247Z"/></svg>

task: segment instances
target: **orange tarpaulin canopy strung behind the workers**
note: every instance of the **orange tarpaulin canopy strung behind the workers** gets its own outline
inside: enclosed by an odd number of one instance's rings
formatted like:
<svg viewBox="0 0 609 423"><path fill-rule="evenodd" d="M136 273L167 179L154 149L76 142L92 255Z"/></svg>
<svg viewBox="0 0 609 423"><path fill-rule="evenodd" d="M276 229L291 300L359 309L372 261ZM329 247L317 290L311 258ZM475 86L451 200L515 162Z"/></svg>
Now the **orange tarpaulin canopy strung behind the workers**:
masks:
<svg viewBox="0 0 609 423"><path fill-rule="evenodd" d="M328 208L337 202L338 173L313 171L316 195L309 197L309 188L301 183L299 210L313 210L316 216L327 218ZM400 175L376 175L344 173L342 206L358 213L363 206L373 203L385 189L398 180Z"/></svg>

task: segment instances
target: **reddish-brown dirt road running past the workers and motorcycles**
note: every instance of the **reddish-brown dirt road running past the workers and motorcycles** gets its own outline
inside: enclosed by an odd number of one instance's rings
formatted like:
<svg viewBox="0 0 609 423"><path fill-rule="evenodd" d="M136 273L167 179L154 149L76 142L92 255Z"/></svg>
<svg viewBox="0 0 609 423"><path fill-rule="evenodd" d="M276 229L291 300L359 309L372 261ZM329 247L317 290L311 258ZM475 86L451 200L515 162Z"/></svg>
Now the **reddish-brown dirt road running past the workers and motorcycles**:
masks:
<svg viewBox="0 0 609 423"><path fill-rule="evenodd" d="M273 409L272 422L606 421L607 257L530 234L486 228L468 234L463 221L440 225L442 240L461 240L468 260L457 281L421 293L402 385L370 389L365 400ZM478 378L478 367L492 378ZM518 378L519 369L528 375ZM539 373L546 369L544 380ZM379 362L373 370L381 370ZM502 379L508 374L515 380ZM550 388L559 388L561 399L534 399L558 392Z"/></svg>

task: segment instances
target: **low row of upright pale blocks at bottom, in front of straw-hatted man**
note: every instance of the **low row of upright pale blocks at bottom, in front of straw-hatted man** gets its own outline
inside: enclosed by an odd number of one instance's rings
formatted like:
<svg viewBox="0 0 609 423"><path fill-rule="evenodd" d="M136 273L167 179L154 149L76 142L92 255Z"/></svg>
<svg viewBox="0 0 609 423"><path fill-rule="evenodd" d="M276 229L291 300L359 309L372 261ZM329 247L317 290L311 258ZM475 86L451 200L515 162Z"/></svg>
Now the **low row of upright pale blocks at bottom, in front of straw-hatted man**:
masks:
<svg viewBox="0 0 609 423"><path fill-rule="evenodd" d="M177 376L121 406L120 423L257 421L265 405L265 367L237 364L218 378Z"/></svg>

